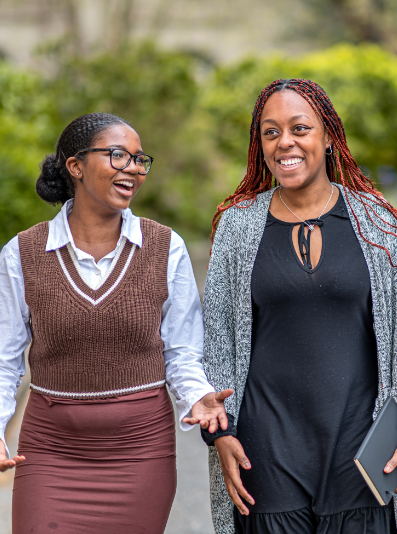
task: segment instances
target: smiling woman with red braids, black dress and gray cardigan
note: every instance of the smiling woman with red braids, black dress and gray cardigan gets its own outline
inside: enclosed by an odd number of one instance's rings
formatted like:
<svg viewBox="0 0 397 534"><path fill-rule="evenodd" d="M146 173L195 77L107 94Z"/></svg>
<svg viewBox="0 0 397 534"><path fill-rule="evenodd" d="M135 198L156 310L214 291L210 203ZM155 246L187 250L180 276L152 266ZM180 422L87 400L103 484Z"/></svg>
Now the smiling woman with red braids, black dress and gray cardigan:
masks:
<svg viewBox="0 0 397 534"><path fill-rule="evenodd" d="M321 87L262 91L204 293L204 370L235 392L202 430L217 534L396 532L353 462L397 400L396 217Z"/></svg>

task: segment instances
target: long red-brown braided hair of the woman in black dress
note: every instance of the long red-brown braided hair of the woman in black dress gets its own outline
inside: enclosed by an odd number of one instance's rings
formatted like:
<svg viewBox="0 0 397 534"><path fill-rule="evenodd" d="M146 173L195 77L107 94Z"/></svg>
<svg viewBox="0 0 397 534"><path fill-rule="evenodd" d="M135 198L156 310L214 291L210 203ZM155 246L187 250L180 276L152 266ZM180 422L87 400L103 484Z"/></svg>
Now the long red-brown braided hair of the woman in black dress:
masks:
<svg viewBox="0 0 397 534"><path fill-rule="evenodd" d="M371 179L364 176L364 174L361 172L357 162L354 160L347 146L346 134L342 121L335 111L335 108L327 94L315 82L292 78L291 80L274 81L263 89L256 101L255 108L252 113L252 122L250 128L247 173L241 183L238 185L236 191L232 195L228 196L218 206L217 212L212 219L211 240L213 241L214 239L219 219L224 211L232 206L236 206L241 209L248 208L251 203L255 201L258 193L268 191L275 184L275 180L273 179L271 172L263 160L260 116L269 97L275 92L286 89L296 91L311 105L332 137L333 154L327 155L326 159L327 175L330 181L342 184L345 191L346 189L349 189L353 197L358 199L363 204L369 220L383 232L397 237L397 233L392 230L397 229L397 210L393 208L393 206L387 202L387 200L385 200L382 194L376 189ZM393 215L392 219L396 224L392 224L384 220L378 213L375 212L373 207L368 203L368 197L366 196L368 193L371 194L371 201L374 204L384 207ZM361 231L360 222L350 204L349 197L347 195L346 198L356 219L358 231L361 237L367 243L385 250L391 264L393 267L396 267L397 264L395 265L393 263L390 252L386 247L380 245L379 243L373 243L364 237ZM239 203L242 200L251 200L252 202L241 206ZM375 220L371 214L375 215ZM382 221L385 225L390 227L390 230L381 228L376 222L376 219L378 221Z"/></svg>

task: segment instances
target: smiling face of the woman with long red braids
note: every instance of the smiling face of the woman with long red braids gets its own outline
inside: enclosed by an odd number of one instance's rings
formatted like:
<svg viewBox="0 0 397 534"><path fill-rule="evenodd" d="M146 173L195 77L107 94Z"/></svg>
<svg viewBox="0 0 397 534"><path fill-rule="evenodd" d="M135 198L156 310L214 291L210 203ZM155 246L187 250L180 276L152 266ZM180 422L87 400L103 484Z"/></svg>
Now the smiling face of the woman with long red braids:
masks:
<svg viewBox="0 0 397 534"><path fill-rule="evenodd" d="M266 165L282 187L299 189L328 180L325 150L332 138L298 93L284 90L269 97L260 124Z"/></svg>

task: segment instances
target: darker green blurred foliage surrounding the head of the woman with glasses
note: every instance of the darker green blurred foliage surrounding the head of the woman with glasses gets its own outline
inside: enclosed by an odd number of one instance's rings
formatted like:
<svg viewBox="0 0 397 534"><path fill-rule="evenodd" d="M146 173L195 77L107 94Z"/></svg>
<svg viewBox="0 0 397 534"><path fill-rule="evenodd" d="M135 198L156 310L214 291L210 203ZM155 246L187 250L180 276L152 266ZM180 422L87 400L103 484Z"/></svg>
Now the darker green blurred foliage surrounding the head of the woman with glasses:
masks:
<svg viewBox="0 0 397 534"><path fill-rule="evenodd" d="M56 55L46 77L0 66L0 244L53 216L55 208L35 194L38 163L71 120L92 111L129 120L154 157L133 211L188 239L208 235L222 156L211 157L214 143L198 107L197 59L150 44L93 59L50 52Z"/></svg>

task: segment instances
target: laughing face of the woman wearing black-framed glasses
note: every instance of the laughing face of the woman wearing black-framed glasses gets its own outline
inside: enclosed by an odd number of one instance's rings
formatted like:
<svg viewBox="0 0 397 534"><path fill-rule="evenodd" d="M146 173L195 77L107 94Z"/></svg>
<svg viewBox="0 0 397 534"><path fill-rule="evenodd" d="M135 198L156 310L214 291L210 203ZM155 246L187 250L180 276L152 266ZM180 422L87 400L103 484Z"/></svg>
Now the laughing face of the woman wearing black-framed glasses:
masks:
<svg viewBox="0 0 397 534"><path fill-rule="evenodd" d="M126 124L104 130L91 148L123 148L131 154L143 153L138 134ZM84 159L69 158L66 162L75 184L75 203L84 202L103 213L128 208L146 176L138 174L132 159L123 170L110 164L109 152L87 152Z"/></svg>

